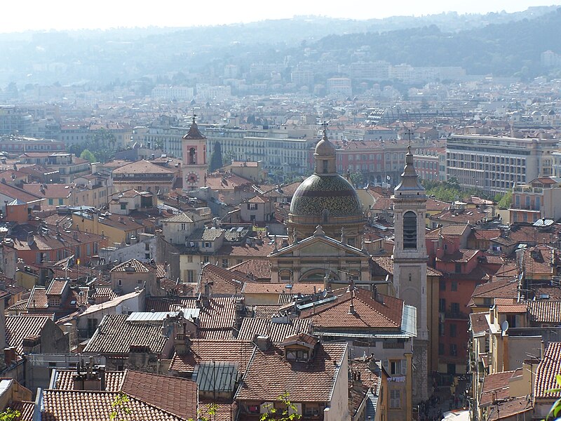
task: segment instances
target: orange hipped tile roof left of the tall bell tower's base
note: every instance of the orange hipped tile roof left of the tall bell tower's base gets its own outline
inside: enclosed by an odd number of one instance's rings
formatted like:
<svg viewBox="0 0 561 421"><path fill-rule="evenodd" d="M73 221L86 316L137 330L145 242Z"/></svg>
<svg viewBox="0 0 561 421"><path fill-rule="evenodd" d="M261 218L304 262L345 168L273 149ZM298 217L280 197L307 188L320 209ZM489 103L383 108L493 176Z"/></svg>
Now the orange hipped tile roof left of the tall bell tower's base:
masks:
<svg viewBox="0 0 561 421"><path fill-rule="evenodd" d="M384 304L374 300L372 293L361 288L353 298L354 313L349 312L351 293L340 295L330 304L317 306L300 314L310 318L314 328L396 328L401 327L403 300L381 295Z"/></svg>

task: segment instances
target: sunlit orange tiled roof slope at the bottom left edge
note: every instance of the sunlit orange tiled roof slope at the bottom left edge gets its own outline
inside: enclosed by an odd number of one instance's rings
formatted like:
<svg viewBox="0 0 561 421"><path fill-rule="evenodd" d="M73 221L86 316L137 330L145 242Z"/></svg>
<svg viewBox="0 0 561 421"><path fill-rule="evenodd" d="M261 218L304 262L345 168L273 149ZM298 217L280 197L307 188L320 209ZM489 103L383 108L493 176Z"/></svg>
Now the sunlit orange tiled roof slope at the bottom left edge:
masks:
<svg viewBox="0 0 561 421"><path fill-rule="evenodd" d="M116 392L46 390L43 392L43 421L109 420ZM130 421L184 421L183 418L133 397L127 403Z"/></svg>

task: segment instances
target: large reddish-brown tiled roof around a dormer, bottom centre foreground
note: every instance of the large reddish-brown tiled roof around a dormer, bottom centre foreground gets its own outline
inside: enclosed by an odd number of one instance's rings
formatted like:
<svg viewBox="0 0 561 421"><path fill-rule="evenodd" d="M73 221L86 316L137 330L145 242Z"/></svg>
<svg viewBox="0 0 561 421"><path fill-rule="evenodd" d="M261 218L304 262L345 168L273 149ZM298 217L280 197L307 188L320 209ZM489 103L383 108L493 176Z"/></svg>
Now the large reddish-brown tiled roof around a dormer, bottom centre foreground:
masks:
<svg viewBox="0 0 561 421"><path fill-rule="evenodd" d="M345 343L320 342L310 362L286 361L283 348L275 345L266 351L255 349L235 399L278 401L288 392L296 402L329 402L346 349Z"/></svg>

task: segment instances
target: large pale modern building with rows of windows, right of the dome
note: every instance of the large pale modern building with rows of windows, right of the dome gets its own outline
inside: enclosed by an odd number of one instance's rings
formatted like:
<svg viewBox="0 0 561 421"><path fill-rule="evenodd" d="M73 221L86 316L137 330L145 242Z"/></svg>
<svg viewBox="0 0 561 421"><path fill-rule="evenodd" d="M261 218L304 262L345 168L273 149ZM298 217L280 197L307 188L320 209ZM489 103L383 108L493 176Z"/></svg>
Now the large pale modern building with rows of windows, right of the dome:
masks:
<svg viewBox="0 0 561 421"><path fill-rule="evenodd" d="M552 174L555 139L451 135L446 175L464 188L508 192L513 185Z"/></svg>

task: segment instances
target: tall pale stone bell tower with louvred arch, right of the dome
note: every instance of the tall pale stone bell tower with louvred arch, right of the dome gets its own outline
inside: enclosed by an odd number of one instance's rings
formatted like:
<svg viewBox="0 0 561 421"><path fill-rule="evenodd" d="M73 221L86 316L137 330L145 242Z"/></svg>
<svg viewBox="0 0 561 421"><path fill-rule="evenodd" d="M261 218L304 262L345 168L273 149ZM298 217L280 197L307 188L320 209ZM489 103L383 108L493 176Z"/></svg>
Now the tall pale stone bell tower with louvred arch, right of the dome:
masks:
<svg viewBox="0 0 561 421"><path fill-rule="evenodd" d="M393 285L405 304L417 307L417 338L413 342L413 403L428 399L428 352L433 334L428 317L433 313L431 286L427 288L425 243L426 191L413 166L411 146L407 148L401 182L393 190ZM437 291L438 293L438 291ZM438 314L437 314L438 316ZM430 336L429 336L430 335ZM436 336L438 340L438 336ZM433 368L435 370L435 368Z"/></svg>

